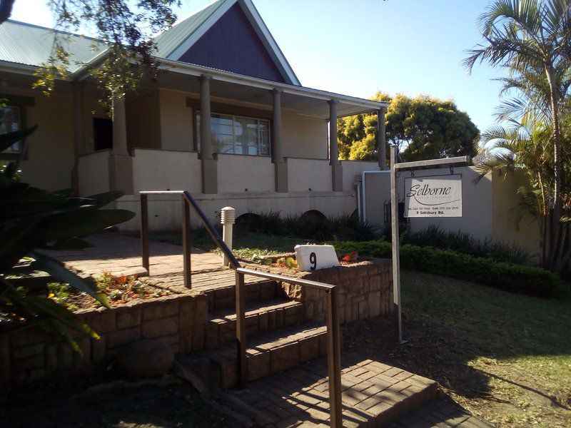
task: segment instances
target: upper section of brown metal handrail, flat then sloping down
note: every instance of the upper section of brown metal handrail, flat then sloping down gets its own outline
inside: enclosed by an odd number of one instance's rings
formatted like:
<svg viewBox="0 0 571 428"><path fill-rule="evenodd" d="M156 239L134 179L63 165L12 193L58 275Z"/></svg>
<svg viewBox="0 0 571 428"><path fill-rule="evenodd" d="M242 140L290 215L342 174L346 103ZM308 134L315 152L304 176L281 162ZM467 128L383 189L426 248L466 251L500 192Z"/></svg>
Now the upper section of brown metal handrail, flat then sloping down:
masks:
<svg viewBox="0 0 571 428"><path fill-rule="evenodd" d="M148 195L181 195L182 202L182 233L183 233L183 266L184 266L184 286L191 288L191 219L190 219L190 207L193 208L194 212L201 219L204 228L211 236L214 243L220 248L222 253L226 255L230 266L233 269L241 267L236 257L232 254L232 251L228 248L228 245L222 240L210 220L203 213L203 210L198 206L196 200L192 197L188 190L142 190L139 192L141 195L141 258L143 259L143 267L151 275L150 263L149 263L149 253L148 253Z"/></svg>

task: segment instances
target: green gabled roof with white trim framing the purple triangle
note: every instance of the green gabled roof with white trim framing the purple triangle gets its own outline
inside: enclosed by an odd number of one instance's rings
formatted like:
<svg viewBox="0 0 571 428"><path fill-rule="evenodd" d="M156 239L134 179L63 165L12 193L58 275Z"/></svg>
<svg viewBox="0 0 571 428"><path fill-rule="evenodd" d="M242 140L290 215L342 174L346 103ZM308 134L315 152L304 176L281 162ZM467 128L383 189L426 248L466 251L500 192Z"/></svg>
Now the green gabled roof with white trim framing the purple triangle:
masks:
<svg viewBox="0 0 571 428"><path fill-rule="evenodd" d="M285 59L283 52L276 40L273 39L251 0L218 0L189 16L171 29L156 36L155 42L158 48L156 56L178 61L235 4L238 4L246 14L248 21L281 72L285 82L301 86L293 68Z"/></svg>

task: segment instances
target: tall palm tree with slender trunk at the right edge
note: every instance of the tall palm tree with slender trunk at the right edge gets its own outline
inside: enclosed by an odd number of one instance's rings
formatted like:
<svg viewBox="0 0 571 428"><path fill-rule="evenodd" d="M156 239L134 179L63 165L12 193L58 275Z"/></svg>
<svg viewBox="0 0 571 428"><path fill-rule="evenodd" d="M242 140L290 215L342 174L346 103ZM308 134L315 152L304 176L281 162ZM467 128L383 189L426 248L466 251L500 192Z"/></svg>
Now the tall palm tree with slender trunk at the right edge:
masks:
<svg viewBox="0 0 571 428"><path fill-rule="evenodd" d="M516 88L523 102L512 111L534 112L552 128L553 188L552 221L547 265L556 269L562 257L562 108L567 104L571 58L570 0L496 0L482 16L480 30L484 44L465 59L471 71L477 61L507 69L506 88ZM540 72L539 78L537 71ZM509 107L509 106L508 106ZM507 109L509 116L509 108Z"/></svg>

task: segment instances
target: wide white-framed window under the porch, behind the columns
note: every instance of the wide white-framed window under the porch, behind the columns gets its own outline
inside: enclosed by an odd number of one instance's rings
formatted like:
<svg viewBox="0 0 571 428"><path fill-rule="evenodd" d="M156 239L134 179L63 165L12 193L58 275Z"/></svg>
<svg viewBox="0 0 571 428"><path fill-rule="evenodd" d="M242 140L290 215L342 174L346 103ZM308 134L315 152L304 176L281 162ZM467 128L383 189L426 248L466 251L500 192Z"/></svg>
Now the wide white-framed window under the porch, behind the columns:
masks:
<svg viewBox="0 0 571 428"><path fill-rule="evenodd" d="M223 114L211 115L214 153L270 156L270 121ZM196 113L197 146L200 151L200 112Z"/></svg>

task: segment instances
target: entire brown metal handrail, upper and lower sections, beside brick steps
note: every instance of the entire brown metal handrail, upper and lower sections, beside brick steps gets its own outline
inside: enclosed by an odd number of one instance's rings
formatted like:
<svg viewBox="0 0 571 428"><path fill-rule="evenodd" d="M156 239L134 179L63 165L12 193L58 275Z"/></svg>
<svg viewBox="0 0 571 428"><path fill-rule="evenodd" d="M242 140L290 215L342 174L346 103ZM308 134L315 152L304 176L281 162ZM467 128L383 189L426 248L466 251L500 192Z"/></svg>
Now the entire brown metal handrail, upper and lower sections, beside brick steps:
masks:
<svg viewBox="0 0 571 428"><path fill-rule="evenodd" d="M187 190L143 190L139 192L141 195L141 258L143 267L146 268L148 275L150 272L149 249L148 249L148 195L181 195L182 203L182 234L183 234L183 275L184 285L191 288L191 207L200 218L201 223L211 236L212 240L218 248L226 255L230 263L230 267L236 270L236 342L238 351L238 385L241 388L246 387L248 382L248 360L246 356L247 337L246 337L246 286L244 277L246 275L262 277L267 280L276 282L287 282L288 284L300 285L301 287L310 287L316 290L322 290L326 295L327 310L325 315L325 325L327 327L327 369L329 381L329 402L330 402L330 426L343 427L343 414L341 404L341 339L340 339L340 320L339 320L339 300L338 286L325 284L324 282L316 282L302 280L295 277L287 277L276 275L269 272L261 272L258 270L246 269L241 267L232 251L222 240L210 220L206 218L201 208Z"/></svg>

